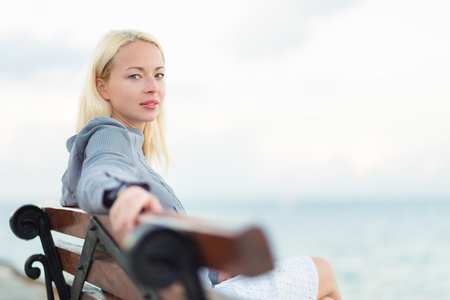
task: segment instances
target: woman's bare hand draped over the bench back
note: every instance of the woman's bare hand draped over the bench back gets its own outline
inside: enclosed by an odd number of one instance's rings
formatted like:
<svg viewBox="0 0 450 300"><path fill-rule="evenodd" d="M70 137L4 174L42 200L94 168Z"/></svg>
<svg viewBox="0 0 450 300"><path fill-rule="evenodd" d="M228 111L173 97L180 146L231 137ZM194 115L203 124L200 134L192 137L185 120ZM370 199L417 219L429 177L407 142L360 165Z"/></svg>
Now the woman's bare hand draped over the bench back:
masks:
<svg viewBox="0 0 450 300"><path fill-rule="evenodd" d="M119 245L138 224L138 217L146 213L163 212L158 198L140 186L129 186L117 197L109 210L111 226Z"/></svg>

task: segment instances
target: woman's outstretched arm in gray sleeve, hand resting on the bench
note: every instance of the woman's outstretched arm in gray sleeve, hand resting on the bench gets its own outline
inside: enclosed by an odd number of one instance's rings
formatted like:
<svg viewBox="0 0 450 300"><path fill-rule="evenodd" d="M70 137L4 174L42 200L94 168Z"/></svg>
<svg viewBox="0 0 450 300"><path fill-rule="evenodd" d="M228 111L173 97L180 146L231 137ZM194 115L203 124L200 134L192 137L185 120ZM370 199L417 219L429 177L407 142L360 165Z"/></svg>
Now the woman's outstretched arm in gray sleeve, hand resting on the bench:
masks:
<svg viewBox="0 0 450 300"><path fill-rule="evenodd" d="M120 242L134 229L140 214L163 211L149 184L140 180L133 158L136 147L142 146L137 138L116 120L98 117L68 141L63 205L70 197L71 203L89 213L109 213Z"/></svg>

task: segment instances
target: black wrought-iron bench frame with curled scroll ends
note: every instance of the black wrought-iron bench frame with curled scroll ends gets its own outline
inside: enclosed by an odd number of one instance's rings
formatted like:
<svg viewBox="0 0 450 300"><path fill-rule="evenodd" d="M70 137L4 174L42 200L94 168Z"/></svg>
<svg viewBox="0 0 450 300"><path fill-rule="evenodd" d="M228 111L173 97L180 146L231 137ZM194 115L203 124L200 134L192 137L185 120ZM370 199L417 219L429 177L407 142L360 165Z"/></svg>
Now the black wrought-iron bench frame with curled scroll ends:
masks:
<svg viewBox="0 0 450 300"><path fill-rule="evenodd" d="M155 289L170 286L177 280L184 284L190 300L206 299L197 275L200 257L195 243L186 233L146 226L145 229L138 229L133 233L133 247L123 251L117 247L94 215L89 223L73 285L69 288L63 276L46 213L34 205L22 206L10 218L10 227L21 239L40 237L44 254L30 256L25 263L25 273L28 277L37 279L41 271L32 265L34 262L43 265L47 296L50 300L54 299L52 283L60 299L80 299L91 266L92 254L98 243L106 248L127 273L142 292L144 299L158 299Z"/></svg>

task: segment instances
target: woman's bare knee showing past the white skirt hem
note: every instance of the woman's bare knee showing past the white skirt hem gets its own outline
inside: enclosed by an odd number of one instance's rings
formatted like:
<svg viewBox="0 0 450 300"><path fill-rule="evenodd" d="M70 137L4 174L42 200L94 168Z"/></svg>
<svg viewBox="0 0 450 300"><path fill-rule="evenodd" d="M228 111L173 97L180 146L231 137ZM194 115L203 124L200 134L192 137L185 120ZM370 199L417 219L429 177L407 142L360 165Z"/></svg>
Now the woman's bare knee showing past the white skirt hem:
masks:
<svg viewBox="0 0 450 300"><path fill-rule="evenodd" d="M341 300L339 287L333 269L328 261L319 257L312 257L319 273L318 300Z"/></svg>

